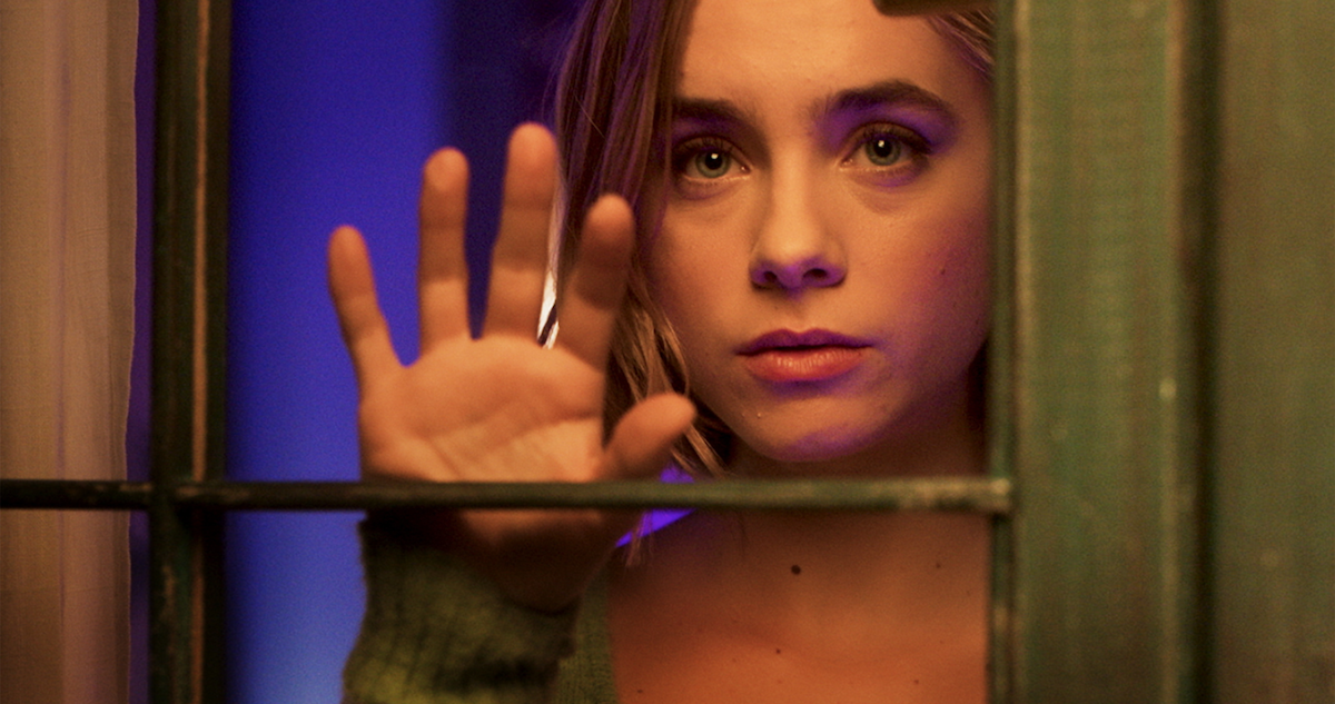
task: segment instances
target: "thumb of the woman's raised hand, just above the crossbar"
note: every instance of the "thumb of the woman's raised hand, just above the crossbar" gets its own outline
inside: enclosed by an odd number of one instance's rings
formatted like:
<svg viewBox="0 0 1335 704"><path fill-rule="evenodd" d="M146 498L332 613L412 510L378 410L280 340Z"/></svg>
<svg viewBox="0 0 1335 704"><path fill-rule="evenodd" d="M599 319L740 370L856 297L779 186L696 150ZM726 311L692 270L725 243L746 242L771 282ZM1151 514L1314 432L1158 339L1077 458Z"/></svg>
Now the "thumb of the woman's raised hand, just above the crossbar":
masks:
<svg viewBox="0 0 1335 704"><path fill-rule="evenodd" d="M606 479L657 476L672 457L673 443L696 419L685 396L659 393L635 404L617 421L606 448Z"/></svg>

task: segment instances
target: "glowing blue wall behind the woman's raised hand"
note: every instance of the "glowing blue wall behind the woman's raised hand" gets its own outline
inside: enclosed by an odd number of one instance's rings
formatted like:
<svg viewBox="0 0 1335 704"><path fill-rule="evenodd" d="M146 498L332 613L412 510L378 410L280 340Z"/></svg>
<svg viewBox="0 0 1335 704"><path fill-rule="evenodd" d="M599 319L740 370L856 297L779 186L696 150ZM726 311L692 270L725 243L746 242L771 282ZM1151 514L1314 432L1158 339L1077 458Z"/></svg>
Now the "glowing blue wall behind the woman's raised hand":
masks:
<svg viewBox="0 0 1335 704"><path fill-rule="evenodd" d="M406 360L417 347L418 175L437 147L459 145L474 165L475 271L490 248L503 144L515 123L539 116L566 1L457 5L235 3L232 479L358 476L355 385L324 283L334 227L351 223L366 233ZM474 279L474 291L482 291L482 276ZM358 519L230 519L227 701L339 700L339 672L363 599Z"/></svg>

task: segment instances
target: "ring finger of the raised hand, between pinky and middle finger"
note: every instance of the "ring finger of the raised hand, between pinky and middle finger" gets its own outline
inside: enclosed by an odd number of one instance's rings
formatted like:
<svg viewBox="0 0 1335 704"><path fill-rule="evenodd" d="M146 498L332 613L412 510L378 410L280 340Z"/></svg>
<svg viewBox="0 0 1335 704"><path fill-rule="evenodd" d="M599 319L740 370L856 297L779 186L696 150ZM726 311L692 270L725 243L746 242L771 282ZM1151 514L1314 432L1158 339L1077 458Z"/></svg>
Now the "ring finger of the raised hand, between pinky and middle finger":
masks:
<svg viewBox="0 0 1335 704"><path fill-rule="evenodd" d="M469 204L469 163L457 149L431 155L422 169L419 205L418 305L422 352L469 333L469 267L463 232Z"/></svg>

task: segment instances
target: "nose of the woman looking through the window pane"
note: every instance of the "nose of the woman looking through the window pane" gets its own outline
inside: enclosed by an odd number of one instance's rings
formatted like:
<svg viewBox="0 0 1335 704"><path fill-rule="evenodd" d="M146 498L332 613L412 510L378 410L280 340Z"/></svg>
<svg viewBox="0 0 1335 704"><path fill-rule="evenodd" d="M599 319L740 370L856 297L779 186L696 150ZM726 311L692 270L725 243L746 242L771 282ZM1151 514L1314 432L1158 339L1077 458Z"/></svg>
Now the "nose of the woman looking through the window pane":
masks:
<svg viewBox="0 0 1335 704"><path fill-rule="evenodd" d="M816 200L806 188L772 191L752 252L752 285L797 292L844 281L842 247Z"/></svg>

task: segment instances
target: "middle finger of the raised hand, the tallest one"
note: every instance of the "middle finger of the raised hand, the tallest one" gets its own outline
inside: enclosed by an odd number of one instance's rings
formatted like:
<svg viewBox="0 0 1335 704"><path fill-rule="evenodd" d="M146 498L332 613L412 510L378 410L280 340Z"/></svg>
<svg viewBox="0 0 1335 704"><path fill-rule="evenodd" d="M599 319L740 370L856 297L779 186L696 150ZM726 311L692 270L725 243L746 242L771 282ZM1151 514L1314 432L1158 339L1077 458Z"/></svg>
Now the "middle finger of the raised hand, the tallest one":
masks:
<svg viewBox="0 0 1335 704"><path fill-rule="evenodd" d="M487 335L535 339L547 273L547 233L557 189L557 145L535 124L510 137L501 228L491 253Z"/></svg>

